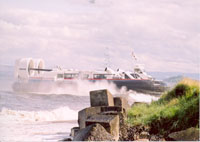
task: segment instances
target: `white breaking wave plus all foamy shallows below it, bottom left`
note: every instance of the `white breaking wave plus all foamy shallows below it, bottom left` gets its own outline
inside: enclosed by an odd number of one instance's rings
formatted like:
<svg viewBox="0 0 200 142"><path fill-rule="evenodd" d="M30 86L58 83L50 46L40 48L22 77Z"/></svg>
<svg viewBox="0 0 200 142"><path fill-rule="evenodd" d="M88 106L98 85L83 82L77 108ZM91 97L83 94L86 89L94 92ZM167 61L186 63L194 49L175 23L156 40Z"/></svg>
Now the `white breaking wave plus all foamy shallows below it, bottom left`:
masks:
<svg viewBox="0 0 200 142"><path fill-rule="evenodd" d="M0 112L0 141L58 141L77 126L77 112L68 107L50 111L19 111L3 108Z"/></svg>

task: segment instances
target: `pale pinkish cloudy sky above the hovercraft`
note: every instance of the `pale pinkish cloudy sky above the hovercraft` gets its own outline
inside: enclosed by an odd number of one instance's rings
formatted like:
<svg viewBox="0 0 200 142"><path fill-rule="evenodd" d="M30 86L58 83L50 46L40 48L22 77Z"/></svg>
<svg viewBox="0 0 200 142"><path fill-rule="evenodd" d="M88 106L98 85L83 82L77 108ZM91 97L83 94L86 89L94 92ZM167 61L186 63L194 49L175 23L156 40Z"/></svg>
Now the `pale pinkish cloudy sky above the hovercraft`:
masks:
<svg viewBox="0 0 200 142"><path fill-rule="evenodd" d="M200 0L0 0L0 64L198 73Z"/></svg>

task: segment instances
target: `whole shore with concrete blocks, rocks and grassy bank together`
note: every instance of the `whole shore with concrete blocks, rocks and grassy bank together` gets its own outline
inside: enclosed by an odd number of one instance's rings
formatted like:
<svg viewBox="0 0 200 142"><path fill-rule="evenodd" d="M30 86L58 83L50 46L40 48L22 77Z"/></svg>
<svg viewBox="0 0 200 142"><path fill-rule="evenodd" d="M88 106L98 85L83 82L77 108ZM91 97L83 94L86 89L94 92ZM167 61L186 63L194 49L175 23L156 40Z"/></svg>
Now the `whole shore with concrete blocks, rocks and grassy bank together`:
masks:
<svg viewBox="0 0 200 142"><path fill-rule="evenodd" d="M91 91L91 107L79 111L79 127L71 129L71 136L75 141L199 140L199 91L198 84L187 79L159 100L131 108L108 90Z"/></svg>

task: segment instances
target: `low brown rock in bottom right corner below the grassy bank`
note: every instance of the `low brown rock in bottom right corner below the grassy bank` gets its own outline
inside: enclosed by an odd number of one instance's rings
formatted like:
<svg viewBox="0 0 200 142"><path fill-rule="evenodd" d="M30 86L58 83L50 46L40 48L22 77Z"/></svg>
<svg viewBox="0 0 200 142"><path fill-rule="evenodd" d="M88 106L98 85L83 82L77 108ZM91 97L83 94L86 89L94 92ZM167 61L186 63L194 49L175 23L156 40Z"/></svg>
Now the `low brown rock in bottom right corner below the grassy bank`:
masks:
<svg viewBox="0 0 200 142"><path fill-rule="evenodd" d="M199 141L199 130L192 127L183 131L171 133L168 137L175 141Z"/></svg>

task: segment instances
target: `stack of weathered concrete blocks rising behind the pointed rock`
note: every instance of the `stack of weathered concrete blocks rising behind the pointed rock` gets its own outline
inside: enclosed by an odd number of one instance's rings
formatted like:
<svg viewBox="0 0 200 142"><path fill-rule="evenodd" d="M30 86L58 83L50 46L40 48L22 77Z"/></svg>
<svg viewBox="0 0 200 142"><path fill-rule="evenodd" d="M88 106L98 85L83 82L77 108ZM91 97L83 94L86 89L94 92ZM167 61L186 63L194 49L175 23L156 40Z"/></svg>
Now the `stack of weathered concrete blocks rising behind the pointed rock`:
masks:
<svg viewBox="0 0 200 142"><path fill-rule="evenodd" d="M92 129L89 130L89 128L96 124L103 126L114 140L118 140L120 124L124 120L125 108L127 107L125 100L116 98L114 105L112 94L107 89L104 89L90 92L90 104L91 107L85 108L78 113L80 131L78 131L78 136L74 140L84 139L86 130L93 131ZM100 127L97 128L100 129ZM89 133L87 132L87 134ZM98 133L96 138L95 140L98 140Z"/></svg>

